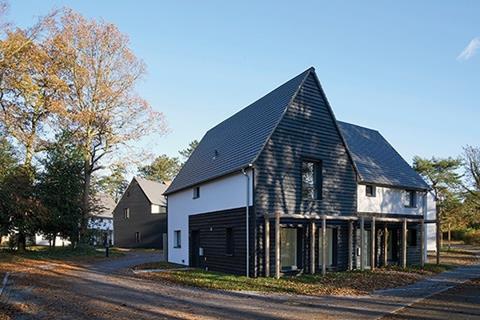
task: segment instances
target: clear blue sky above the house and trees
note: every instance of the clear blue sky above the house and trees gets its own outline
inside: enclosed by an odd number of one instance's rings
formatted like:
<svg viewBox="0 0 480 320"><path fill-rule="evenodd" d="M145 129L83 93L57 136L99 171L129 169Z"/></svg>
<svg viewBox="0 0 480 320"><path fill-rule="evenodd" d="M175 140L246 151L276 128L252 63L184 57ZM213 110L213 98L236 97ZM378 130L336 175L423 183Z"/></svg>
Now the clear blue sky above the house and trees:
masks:
<svg viewBox="0 0 480 320"><path fill-rule="evenodd" d="M378 129L409 162L480 144L479 1L332 2L16 0L10 19L66 6L127 34L148 67L138 91L171 128L156 154L310 66L337 119Z"/></svg>

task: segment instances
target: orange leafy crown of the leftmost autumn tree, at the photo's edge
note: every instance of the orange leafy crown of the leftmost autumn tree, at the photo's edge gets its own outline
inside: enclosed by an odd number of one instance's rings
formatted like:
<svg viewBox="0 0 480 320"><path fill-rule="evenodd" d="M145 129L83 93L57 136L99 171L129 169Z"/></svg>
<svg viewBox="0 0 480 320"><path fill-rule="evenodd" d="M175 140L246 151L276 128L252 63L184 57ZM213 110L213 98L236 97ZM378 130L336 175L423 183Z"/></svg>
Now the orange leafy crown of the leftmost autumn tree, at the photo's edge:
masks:
<svg viewBox="0 0 480 320"><path fill-rule="evenodd" d="M63 110L66 85L48 31L54 14L0 38L0 124L22 147L25 165L45 146L52 116Z"/></svg>

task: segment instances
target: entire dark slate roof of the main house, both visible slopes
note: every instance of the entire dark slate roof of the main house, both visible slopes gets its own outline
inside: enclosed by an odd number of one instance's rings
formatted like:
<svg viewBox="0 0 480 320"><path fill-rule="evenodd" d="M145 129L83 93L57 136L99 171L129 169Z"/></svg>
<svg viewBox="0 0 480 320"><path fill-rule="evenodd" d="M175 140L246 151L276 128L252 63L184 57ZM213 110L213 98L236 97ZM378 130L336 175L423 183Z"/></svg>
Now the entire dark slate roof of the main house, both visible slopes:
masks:
<svg viewBox="0 0 480 320"><path fill-rule="evenodd" d="M282 119L310 68L210 129L165 195L215 179L253 164ZM316 75L315 75L316 77ZM423 179L377 132L338 122L359 180L426 189Z"/></svg>

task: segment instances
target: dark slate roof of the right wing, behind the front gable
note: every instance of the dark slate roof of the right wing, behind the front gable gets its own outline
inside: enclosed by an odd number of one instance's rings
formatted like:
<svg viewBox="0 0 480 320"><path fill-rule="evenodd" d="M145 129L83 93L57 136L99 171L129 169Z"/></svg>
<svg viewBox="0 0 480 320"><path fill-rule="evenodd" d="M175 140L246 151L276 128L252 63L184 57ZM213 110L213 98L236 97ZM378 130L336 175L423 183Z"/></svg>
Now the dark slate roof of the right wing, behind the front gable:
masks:
<svg viewBox="0 0 480 320"><path fill-rule="evenodd" d="M376 130L337 121L359 180L386 186L428 189L428 185Z"/></svg>

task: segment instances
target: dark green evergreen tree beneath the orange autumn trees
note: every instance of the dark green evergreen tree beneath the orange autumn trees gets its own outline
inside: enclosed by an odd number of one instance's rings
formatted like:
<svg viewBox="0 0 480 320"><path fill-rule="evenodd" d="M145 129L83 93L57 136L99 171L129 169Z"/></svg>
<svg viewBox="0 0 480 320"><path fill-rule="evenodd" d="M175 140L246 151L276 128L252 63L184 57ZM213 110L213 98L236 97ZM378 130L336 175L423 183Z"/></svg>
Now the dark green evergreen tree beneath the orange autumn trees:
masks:
<svg viewBox="0 0 480 320"><path fill-rule="evenodd" d="M53 240L60 235L72 243L78 240L82 216L83 159L68 134L50 145L42 161L38 195L46 210L41 232Z"/></svg>

